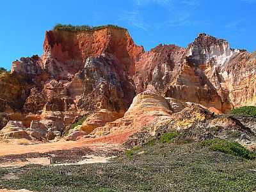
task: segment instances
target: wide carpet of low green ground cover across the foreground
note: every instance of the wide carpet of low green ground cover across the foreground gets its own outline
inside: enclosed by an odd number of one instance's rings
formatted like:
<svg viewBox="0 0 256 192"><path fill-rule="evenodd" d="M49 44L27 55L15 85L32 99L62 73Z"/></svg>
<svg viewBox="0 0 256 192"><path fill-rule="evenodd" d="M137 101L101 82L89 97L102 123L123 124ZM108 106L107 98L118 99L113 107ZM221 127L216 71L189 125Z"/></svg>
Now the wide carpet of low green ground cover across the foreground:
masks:
<svg viewBox="0 0 256 192"><path fill-rule="evenodd" d="M195 143L157 142L110 163L0 169L0 188L33 191L255 191L255 160Z"/></svg>

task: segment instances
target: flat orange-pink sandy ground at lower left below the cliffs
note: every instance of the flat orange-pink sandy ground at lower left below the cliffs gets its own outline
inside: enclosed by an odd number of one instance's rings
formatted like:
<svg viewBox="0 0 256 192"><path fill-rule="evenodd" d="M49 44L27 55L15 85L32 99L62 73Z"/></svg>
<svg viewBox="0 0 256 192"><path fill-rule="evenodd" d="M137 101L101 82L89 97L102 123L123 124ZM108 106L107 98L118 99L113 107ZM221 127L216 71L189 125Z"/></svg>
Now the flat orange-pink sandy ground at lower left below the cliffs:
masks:
<svg viewBox="0 0 256 192"><path fill-rule="evenodd" d="M28 164L51 165L50 157L60 156L63 160L57 165L76 165L84 163L106 163L115 156L116 151L122 150L122 144L134 133L134 130L119 131L118 133L99 138L81 138L77 141L52 142L46 144L31 144L22 140L0 142L0 168L25 166ZM49 157L49 155L51 155Z"/></svg>

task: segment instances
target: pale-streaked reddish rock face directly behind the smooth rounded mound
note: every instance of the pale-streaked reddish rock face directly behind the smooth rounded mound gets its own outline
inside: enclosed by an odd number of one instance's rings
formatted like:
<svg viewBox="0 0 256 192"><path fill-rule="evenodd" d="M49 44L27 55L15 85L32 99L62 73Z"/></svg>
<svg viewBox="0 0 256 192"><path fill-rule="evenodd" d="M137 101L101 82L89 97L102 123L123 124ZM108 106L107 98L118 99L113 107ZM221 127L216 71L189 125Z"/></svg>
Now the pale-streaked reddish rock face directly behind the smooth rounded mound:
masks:
<svg viewBox="0 0 256 192"><path fill-rule="evenodd" d="M179 74L184 52L184 48L175 45L158 45L141 54L135 65L136 92L143 92L148 85L153 85L158 92L164 94L164 89Z"/></svg>

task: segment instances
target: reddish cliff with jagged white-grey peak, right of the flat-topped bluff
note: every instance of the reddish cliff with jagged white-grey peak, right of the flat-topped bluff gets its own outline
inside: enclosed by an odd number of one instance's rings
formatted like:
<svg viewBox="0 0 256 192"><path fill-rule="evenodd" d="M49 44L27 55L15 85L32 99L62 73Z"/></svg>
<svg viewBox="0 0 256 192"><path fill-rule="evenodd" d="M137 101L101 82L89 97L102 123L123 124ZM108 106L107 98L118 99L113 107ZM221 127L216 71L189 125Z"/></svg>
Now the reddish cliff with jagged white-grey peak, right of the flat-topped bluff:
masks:
<svg viewBox="0 0 256 192"><path fill-rule="evenodd" d="M225 40L199 34L188 48L159 45L142 54L136 63L136 91L154 85L164 97L200 103L216 111L227 112L232 103L220 86L217 68L229 61L236 50Z"/></svg>

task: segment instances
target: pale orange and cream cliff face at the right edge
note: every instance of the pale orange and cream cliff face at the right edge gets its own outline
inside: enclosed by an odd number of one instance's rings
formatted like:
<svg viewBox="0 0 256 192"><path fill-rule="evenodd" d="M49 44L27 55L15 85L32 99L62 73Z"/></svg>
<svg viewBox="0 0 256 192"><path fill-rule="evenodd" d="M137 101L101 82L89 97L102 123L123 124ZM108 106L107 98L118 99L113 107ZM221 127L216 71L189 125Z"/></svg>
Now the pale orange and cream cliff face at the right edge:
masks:
<svg viewBox="0 0 256 192"><path fill-rule="evenodd" d="M228 90L228 98L235 107L244 105L255 105L256 54L241 52L232 57L230 61L221 68L222 84Z"/></svg>

